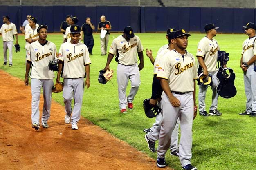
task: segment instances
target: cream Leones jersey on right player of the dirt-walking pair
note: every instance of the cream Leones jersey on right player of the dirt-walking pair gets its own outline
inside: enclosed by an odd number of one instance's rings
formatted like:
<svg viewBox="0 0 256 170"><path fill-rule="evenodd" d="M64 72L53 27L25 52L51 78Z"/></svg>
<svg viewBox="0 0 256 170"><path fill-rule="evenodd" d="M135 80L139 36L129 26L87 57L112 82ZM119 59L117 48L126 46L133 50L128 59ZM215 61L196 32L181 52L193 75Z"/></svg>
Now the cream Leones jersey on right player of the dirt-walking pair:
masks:
<svg viewBox="0 0 256 170"><path fill-rule="evenodd" d="M85 77L85 65L91 64L87 46L82 42L61 44L58 59L64 62L63 78Z"/></svg>

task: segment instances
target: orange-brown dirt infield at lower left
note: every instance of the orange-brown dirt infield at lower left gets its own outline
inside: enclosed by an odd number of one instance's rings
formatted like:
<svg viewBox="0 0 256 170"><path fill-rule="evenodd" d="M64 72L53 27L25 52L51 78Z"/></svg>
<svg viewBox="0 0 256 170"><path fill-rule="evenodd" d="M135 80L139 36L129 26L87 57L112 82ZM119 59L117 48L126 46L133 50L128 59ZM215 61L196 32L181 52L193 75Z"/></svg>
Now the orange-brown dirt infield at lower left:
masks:
<svg viewBox="0 0 256 170"><path fill-rule="evenodd" d="M32 129L30 87L2 70L0 77L1 170L159 169L154 159L87 119L81 118L79 130L71 130L64 122L64 107L54 101L49 128ZM42 106L40 102L40 112Z"/></svg>

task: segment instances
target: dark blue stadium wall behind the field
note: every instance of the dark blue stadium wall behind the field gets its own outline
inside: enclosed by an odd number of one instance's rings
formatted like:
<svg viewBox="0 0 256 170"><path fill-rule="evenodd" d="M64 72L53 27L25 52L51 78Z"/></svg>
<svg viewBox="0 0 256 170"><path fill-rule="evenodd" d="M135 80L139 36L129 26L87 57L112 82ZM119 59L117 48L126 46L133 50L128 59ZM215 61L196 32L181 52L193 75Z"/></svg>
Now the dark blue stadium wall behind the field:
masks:
<svg viewBox="0 0 256 170"><path fill-rule="evenodd" d="M204 25L213 23L220 27L218 32L243 33L248 22L256 19L254 8L220 7L130 7L130 6L0 6L0 15L9 15L17 29L30 14L38 19L38 24L47 24L49 32L59 32L66 15L79 18L81 26L86 17L95 26L101 15L106 16L113 32L125 26L132 26L135 33L165 32L166 28L186 29L189 32L204 32Z"/></svg>

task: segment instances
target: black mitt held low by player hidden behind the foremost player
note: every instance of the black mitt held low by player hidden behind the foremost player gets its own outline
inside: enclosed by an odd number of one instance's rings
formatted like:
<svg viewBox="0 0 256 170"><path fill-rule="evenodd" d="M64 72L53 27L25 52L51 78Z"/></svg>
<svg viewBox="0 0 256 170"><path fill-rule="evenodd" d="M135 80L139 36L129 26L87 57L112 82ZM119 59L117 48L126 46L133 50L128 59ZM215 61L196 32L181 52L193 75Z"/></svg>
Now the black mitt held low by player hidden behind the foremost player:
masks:
<svg viewBox="0 0 256 170"><path fill-rule="evenodd" d="M162 109L155 105L149 104L150 99L145 99L143 101L144 111L148 118L156 117L159 113L161 113Z"/></svg>

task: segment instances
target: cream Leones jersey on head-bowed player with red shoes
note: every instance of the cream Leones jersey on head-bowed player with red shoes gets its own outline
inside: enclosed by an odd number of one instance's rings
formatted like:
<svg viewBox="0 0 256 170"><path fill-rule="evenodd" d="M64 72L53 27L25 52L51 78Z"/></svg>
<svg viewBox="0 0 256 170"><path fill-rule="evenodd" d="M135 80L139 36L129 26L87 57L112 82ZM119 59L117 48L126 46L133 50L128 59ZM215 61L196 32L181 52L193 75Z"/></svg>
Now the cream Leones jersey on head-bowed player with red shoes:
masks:
<svg viewBox="0 0 256 170"><path fill-rule="evenodd" d="M118 63L128 66L137 63L137 52L141 51L143 46L139 37L135 35L127 42L122 35L119 35L113 40L108 52L117 55Z"/></svg>

